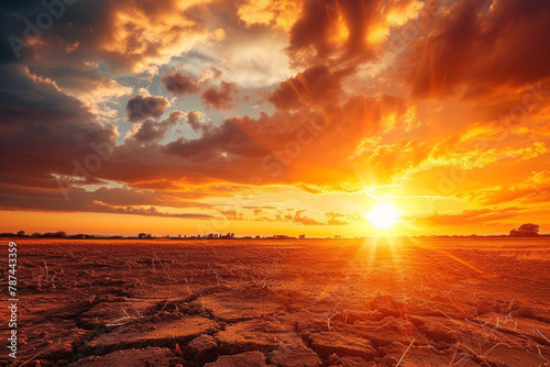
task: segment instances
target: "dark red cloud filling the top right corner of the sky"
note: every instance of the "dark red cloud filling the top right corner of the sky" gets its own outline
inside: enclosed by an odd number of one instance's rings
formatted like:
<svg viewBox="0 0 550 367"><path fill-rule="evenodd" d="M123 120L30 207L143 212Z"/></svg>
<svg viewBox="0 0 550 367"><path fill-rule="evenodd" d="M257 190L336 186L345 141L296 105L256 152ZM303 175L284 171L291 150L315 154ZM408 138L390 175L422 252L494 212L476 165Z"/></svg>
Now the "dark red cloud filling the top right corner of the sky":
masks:
<svg viewBox="0 0 550 367"><path fill-rule="evenodd" d="M488 93L550 77L550 4L537 0L458 1L413 43L406 77L416 97Z"/></svg>

